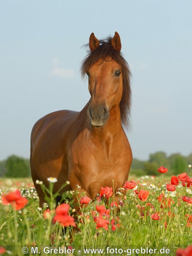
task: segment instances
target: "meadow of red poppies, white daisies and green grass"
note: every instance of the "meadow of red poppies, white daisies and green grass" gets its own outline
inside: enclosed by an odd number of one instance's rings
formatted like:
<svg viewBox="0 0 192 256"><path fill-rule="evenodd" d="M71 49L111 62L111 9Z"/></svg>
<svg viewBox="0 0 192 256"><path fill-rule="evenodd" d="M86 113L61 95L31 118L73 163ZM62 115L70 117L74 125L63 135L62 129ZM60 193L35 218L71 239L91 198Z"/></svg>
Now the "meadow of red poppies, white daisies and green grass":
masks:
<svg viewBox="0 0 192 256"><path fill-rule="evenodd" d="M163 177L163 166L155 177L129 177L116 192L118 201L109 187L95 201L79 195L79 215L69 204L73 191L56 207L56 178L49 177L48 189L37 181L47 194L43 209L29 178L0 180L0 254L192 256L190 167L177 177Z"/></svg>

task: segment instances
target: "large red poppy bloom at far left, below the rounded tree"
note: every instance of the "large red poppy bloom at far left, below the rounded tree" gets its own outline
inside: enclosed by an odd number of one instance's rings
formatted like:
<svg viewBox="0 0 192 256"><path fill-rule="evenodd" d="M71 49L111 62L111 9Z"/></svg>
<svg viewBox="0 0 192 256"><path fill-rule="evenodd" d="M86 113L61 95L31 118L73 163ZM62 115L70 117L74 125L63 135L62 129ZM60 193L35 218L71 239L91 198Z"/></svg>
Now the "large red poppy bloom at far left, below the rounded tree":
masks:
<svg viewBox="0 0 192 256"><path fill-rule="evenodd" d="M28 200L20 195L20 191L16 189L6 195L2 195L2 204L11 204L15 210L23 209Z"/></svg>

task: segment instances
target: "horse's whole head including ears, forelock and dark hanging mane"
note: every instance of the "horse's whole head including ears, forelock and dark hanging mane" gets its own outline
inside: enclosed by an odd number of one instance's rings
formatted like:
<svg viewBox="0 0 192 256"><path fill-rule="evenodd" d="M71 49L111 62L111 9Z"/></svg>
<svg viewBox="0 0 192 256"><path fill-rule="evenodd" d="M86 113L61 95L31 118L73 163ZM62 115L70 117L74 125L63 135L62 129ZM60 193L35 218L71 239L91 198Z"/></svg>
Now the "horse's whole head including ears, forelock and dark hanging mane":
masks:
<svg viewBox="0 0 192 256"><path fill-rule="evenodd" d="M91 95L87 115L93 126L103 126L110 110L120 106L121 119L126 123L131 104L128 64L122 57L121 41L115 32L113 38L99 41L92 33L89 39L90 52L81 65L87 73Z"/></svg>

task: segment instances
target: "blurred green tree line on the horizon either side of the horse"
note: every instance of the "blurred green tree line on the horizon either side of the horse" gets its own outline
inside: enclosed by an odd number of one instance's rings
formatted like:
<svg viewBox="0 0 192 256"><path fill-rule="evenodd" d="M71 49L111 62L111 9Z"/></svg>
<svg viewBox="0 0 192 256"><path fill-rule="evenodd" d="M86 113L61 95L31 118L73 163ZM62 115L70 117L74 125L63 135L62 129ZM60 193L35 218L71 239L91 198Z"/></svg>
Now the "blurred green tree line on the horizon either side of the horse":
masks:
<svg viewBox="0 0 192 256"><path fill-rule="evenodd" d="M147 161L134 158L130 173L138 177L158 175L157 168L164 166L169 169L166 175L178 175L186 172L189 164L192 164L192 153L187 157L180 153L167 156L165 152L159 151L150 154ZM30 173L29 159L12 155L0 161L0 177L30 177Z"/></svg>

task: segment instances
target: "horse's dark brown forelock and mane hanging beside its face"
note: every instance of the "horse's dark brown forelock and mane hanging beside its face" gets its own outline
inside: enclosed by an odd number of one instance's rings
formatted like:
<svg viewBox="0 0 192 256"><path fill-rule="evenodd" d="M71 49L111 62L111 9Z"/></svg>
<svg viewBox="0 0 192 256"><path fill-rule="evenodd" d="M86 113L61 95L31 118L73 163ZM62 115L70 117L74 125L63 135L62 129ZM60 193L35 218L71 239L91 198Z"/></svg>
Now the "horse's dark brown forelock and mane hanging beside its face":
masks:
<svg viewBox="0 0 192 256"><path fill-rule="evenodd" d="M131 111L131 85L130 85L130 76L131 72L127 61L122 57L122 54L113 49L111 45L111 37L108 37L105 40L99 41L99 47L97 47L92 52L89 50L87 56L81 62L81 75L84 76L87 70L95 64L99 59L105 60L107 57L113 58L119 65L122 67L123 73L123 92L122 99L120 102L120 111L121 111L121 121L122 124L128 128L130 125L130 111ZM84 45L87 47L89 44Z"/></svg>

